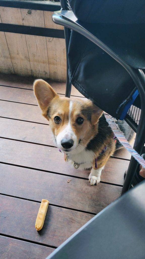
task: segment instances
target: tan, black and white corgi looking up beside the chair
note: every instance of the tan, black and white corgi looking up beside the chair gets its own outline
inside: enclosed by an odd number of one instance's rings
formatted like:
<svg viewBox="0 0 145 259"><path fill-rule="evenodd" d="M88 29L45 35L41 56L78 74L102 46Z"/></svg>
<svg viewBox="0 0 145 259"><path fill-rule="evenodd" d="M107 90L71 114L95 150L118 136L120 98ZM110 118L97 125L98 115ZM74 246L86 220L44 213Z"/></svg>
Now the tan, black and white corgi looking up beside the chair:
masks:
<svg viewBox="0 0 145 259"><path fill-rule="evenodd" d="M60 97L42 79L35 80L34 93L42 115L49 121L55 146L64 153L65 161L76 169L90 169L90 184L98 184L116 148L103 111L91 100Z"/></svg>

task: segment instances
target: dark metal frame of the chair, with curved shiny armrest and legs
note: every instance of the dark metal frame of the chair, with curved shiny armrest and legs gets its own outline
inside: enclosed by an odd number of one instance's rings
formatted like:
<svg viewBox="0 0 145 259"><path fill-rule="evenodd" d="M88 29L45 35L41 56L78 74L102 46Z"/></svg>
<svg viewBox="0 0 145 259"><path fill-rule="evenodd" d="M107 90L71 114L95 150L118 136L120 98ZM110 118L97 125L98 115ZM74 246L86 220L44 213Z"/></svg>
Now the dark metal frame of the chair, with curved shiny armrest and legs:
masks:
<svg viewBox="0 0 145 259"><path fill-rule="evenodd" d="M66 0L60 0L61 10L57 11L53 14L52 20L56 24L60 24L64 26L65 31L65 40L66 40L66 55L68 56L68 46L70 40L70 32L74 30L80 34L82 34L87 39L91 40L98 47L103 49L106 53L108 53L113 59L115 59L118 63L120 63L126 71L132 77L140 96L141 102L141 115L139 120L139 125L137 128L132 124L132 120L130 118L125 119L126 122L136 131L136 138L134 142L134 149L142 154L142 149L145 142L145 75L142 69L137 69L129 66L126 62L124 62L117 54L115 54L109 47L107 47L103 42L101 42L98 38L96 38L91 32L89 32L86 28L84 28L77 18L74 16L72 11L68 11ZM68 76L68 59L67 59L67 81L66 81L66 97L70 97L71 93L71 83ZM130 164L127 169L122 194L131 188L132 181L137 169L138 163L136 160L131 157Z"/></svg>

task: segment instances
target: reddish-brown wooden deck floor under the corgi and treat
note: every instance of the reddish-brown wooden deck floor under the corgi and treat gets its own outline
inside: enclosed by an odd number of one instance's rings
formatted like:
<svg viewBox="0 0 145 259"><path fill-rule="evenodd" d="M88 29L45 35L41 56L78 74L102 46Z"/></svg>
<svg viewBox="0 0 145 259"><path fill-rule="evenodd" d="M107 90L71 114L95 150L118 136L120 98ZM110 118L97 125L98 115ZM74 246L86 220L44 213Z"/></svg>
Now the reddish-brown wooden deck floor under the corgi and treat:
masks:
<svg viewBox="0 0 145 259"><path fill-rule="evenodd" d="M88 171L70 168L53 147L32 78L0 75L0 258L43 259L120 196L130 154L119 150L91 186ZM51 82L61 95L65 83ZM82 95L72 89L72 97ZM68 183L67 180L71 179ZM35 229L41 199L50 201Z"/></svg>

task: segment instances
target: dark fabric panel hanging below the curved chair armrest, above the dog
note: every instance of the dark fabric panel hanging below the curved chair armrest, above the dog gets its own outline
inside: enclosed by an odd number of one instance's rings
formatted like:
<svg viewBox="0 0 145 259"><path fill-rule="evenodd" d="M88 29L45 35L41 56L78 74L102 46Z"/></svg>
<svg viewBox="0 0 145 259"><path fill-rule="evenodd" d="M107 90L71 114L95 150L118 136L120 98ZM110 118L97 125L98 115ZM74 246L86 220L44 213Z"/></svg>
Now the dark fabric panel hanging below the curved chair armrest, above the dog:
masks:
<svg viewBox="0 0 145 259"><path fill-rule="evenodd" d="M132 95L136 87L117 61L83 35L72 31L68 66L70 81L79 92L111 116L124 119L127 113L124 108L129 104L129 109L134 102Z"/></svg>

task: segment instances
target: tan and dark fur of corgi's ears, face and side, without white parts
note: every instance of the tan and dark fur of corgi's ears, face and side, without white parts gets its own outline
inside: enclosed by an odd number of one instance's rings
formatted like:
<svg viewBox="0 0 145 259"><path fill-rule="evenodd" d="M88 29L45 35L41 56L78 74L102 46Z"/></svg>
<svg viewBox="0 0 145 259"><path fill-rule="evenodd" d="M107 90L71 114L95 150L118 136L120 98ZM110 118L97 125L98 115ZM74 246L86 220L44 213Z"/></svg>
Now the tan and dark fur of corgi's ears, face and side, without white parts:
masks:
<svg viewBox="0 0 145 259"><path fill-rule="evenodd" d="M41 79L35 81L34 92L39 106L42 109L43 116L49 120L53 135L57 137L57 135L64 130L68 124L70 99L66 97L60 98L52 87ZM84 148L87 147L88 150L91 150L92 145L94 155L92 157L91 164L94 170L98 170L106 164L110 155L115 151L113 133L110 129L107 129L106 131L107 127L103 126L104 124L99 122L99 118L103 111L95 106L90 100L84 101L82 99L76 99L71 100L71 102L73 102L70 118L71 128L77 136L77 139L81 139L81 143ZM61 123L56 124L54 122L55 116L61 117ZM84 119L82 125L78 125L76 123L76 118L79 116ZM96 142L93 144L95 136L98 136L98 139L95 140ZM106 145L106 152L99 155ZM79 149L77 152L79 153ZM95 168L96 157L98 158L97 169Z"/></svg>

